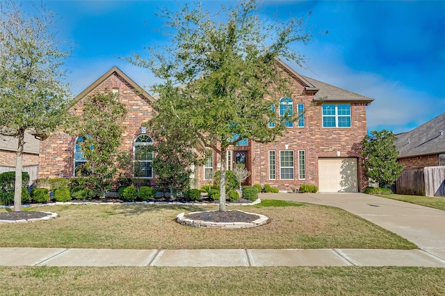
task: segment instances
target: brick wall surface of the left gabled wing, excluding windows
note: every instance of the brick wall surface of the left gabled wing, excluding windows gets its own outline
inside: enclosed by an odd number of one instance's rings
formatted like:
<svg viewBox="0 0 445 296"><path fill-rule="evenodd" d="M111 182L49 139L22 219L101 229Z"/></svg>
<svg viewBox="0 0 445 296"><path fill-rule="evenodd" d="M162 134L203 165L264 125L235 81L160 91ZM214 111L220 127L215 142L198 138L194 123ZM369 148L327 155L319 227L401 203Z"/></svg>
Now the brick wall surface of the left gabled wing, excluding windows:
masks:
<svg viewBox="0 0 445 296"><path fill-rule="evenodd" d="M128 109L127 117L122 122L125 131L122 135L120 150L128 152L133 158L133 141L140 135L140 127L143 122L152 118L153 109L148 99L133 90L131 84L116 72L97 85L97 88L92 90L90 94L113 88L119 88L120 101ZM81 115L83 100L85 99L88 99L88 96L72 107L74 114ZM40 142L39 178L71 178L73 176L74 141L74 137L60 133Z"/></svg>

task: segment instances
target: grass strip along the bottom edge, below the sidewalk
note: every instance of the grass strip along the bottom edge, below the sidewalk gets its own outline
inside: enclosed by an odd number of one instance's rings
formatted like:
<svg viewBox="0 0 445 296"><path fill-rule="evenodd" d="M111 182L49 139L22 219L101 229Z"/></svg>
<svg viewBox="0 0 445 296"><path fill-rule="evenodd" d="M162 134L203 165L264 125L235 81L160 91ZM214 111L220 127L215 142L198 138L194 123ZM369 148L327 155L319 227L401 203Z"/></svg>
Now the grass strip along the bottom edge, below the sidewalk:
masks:
<svg viewBox="0 0 445 296"><path fill-rule="evenodd" d="M0 267L1 295L445 295L445 268Z"/></svg>

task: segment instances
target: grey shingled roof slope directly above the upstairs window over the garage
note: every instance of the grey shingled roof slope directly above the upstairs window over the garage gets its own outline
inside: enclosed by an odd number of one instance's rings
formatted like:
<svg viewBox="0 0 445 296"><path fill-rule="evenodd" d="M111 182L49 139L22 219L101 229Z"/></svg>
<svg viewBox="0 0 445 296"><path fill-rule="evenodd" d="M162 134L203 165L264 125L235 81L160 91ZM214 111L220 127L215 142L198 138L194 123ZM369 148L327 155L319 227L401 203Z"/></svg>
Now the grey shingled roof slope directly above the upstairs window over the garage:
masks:
<svg viewBox="0 0 445 296"><path fill-rule="evenodd" d="M374 99L362 96L362 94L356 94L349 90L343 90L343 88L337 88L337 86L318 81L316 79L304 77L309 83L319 88L318 92L314 94L314 101L363 101L364 103L371 103Z"/></svg>

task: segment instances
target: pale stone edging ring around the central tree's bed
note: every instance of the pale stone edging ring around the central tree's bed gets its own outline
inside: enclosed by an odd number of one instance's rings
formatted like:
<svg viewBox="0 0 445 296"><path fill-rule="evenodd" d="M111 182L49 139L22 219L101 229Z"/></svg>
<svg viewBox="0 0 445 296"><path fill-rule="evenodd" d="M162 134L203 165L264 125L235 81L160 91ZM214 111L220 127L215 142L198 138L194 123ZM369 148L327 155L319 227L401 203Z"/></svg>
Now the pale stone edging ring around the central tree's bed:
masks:
<svg viewBox="0 0 445 296"><path fill-rule="evenodd" d="M239 210L238 210L239 211ZM263 224L266 224L269 220L265 215L257 214L257 213L248 213L241 211L246 214L257 215L259 218L252 222L210 222L210 221L202 221L202 220L192 220L184 218L185 213L180 213L176 216L176 221L179 224L193 227L209 227L209 228L225 228L225 229L236 229L236 228L248 228L248 227L257 227ZM193 212L201 213L201 212Z"/></svg>

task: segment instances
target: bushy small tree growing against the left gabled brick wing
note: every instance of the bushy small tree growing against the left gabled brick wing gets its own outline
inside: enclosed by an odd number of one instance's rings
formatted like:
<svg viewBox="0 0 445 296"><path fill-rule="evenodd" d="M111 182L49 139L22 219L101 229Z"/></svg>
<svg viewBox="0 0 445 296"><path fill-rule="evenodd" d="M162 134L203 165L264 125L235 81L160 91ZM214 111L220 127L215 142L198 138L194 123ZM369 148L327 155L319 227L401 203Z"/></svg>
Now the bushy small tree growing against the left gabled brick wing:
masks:
<svg viewBox="0 0 445 296"><path fill-rule="evenodd" d="M82 138L78 144L86 163L77 169L86 176L95 195L105 197L118 170L128 161L127 154L119 150L127 108L119 101L118 94L109 91L97 92L83 100L83 114L72 133Z"/></svg>

